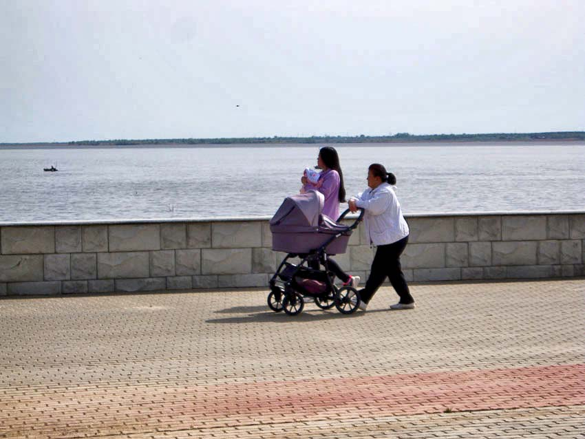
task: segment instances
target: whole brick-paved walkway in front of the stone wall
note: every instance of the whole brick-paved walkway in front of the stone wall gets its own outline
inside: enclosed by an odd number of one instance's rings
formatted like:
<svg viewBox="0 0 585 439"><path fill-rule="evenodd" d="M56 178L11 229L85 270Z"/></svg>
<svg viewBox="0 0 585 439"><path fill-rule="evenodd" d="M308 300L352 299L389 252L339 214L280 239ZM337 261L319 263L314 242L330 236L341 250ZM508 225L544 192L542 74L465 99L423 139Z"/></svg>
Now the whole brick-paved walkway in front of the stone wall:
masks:
<svg viewBox="0 0 585 439"><path fill-rule="evenodd" d="M585 280L0 300L0 438L585 438Z"/></svg>

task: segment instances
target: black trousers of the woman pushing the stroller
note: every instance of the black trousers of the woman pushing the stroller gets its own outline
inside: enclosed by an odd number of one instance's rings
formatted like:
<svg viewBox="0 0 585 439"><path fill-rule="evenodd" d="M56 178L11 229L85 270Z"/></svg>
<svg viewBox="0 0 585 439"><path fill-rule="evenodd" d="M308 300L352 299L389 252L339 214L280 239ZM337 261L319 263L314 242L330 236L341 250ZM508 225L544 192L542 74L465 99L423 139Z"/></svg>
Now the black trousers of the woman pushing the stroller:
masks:
<svg viewBox="0 0 585 439"><path fill-rule="evenodd" d="M400 296L400 303L414 302L400 265L400 255L406 248L407 242L408 237L404 237L400 241L393 242L392 244L378 246L374 261L372 261L370 277L368 277L368 281L365 283L365 288L359 292L362 301L368 303L374 297L378 288L384 283L386 277L388 277L390 283L392 283L392 287L394 287L394 290Z"/></svg>

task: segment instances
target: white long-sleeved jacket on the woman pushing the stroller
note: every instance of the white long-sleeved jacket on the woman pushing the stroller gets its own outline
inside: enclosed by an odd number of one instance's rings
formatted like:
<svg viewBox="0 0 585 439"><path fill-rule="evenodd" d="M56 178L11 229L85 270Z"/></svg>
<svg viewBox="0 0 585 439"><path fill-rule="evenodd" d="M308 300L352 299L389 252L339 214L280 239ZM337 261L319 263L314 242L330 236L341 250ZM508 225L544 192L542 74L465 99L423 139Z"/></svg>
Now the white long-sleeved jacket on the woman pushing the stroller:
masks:
<svg viewBox="0 0 585 439"><path fill-rule="evenodd" d="M365 210L365 236L368 242L376 246L392 244L409 234L394 189L395 186L382 183L376 189L368 188L359 193L357 199L354 197L356 206Z"/></svg>

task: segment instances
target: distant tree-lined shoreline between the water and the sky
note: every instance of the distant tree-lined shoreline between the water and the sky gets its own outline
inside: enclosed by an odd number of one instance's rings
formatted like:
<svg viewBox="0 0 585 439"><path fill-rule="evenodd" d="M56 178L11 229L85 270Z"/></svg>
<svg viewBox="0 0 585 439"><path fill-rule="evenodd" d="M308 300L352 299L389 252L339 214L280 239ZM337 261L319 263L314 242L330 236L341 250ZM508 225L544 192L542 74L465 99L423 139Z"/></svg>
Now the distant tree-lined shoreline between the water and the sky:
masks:
<svg viewBox="0 0 585 439"><path fill-rule="evenodd" d="M99 148L218 148L218 147L271 147L336 144L359 147L414 146L421 144L551 144L551 142L575 144L585 142L585 131L560 131L548 133L489 133L489 134L432 134L412 135L398 133L394 136L311 136L266 138L182 138L142 140L79 140L73 142L26 142L0 143L0 149L99 149Z"/></svg>

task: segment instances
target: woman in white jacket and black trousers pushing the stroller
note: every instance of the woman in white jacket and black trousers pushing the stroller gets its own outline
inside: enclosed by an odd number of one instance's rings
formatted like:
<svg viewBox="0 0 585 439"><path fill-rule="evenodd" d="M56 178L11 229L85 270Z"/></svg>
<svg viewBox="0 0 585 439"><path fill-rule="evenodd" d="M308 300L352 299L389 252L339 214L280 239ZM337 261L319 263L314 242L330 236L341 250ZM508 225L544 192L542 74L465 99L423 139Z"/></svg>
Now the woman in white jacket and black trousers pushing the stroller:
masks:
<svg viewBox="0 0 585 439"><path fill-rule="evenodd" d="M414 308L414 299L400 265L400 255L408 242L409 229L398 198L396 198L396 177L387 173L379 163L370 164L368 168L368 189L358 197L352 197L348 204L350 211L363 208L365 233L368 242L376 246L376 255L372 261L370 277L365 288L359 291L360 308L365 310L374 294L386 277L398 293L400 301L390 306L393 310L410 310Z"/></svg>

